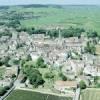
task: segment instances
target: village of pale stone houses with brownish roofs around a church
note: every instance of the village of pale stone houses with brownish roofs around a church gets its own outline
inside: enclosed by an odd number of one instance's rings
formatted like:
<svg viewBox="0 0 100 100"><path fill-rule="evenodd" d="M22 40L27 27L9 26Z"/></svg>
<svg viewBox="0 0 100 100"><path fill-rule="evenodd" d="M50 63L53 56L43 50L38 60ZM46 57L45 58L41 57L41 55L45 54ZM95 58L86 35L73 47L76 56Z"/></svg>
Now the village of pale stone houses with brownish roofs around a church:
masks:
<svg viewBox="0 0 100 100"><path fill-rule="evenodd" d="M12 37L0 37L0 71L2 70L0 87L10 86L13 83L17 89L33 88L28 79L21 83L23 72L19 61L28 56L31 57L31 61L36 61L39 57L43 58L44 63L48 66L47 72L52 70L51 72L58 73L60 69L63 74L62 79L49 80L47 84L52 83L51 89L44 85L44 87L40 87L41 91L48 90L48 92L52 91L59 95L74 97L76 90L80 87L80 82L84 83L83 89L93 87L95 77L100 77L100 53L94 55L85 52L87 43L93 42L92 38L88 39L81 35L80 38L59 36L51 39L44 34L30 36L24 31L18 33L13 28L0 28L0 32L5 30L9 30ZM100 45L98 38L96 41L97 45ZM44 73L41 74L44 75Z"/></svg>

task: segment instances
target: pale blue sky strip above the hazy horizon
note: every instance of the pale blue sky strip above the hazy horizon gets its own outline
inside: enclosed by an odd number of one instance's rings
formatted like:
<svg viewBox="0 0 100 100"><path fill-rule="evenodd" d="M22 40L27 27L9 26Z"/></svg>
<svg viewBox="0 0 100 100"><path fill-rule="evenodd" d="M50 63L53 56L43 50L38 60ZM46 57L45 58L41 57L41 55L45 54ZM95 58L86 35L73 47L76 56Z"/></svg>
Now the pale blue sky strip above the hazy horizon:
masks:
<svg viewBox="0 0 100 100"><path fill-rule="evenodd" d="M22 4L100 5L100 0L0 0L0 5L22 5Z"/></svg>

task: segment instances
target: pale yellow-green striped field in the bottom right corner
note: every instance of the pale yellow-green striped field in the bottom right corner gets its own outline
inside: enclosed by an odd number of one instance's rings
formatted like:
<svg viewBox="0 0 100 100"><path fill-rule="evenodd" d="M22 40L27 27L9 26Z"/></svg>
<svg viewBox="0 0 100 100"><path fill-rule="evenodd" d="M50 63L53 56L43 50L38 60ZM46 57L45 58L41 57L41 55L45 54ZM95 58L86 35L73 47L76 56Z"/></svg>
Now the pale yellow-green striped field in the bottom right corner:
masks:
<svg viewBox="0 0 100 100"><path fill-rule="evenodd" d="M100 100L100 89L86 89L81 100Z"/></svg>

